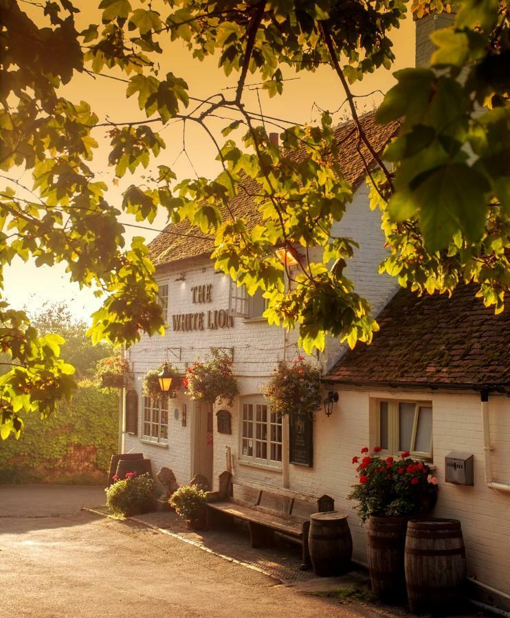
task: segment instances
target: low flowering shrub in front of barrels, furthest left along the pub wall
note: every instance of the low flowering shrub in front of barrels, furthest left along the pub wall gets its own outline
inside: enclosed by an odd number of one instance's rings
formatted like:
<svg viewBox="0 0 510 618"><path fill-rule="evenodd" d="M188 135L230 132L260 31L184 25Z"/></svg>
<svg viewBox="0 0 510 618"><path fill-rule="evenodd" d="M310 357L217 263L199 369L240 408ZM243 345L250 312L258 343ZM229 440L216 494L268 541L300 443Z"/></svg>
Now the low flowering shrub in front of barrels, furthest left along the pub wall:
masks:
<svg viewBox="0 0 510 618"><path fill-rule="evenodd" d="M118 477L113 477L113 480ZM153 509L153 479L148 474L128 472L106 488L107 505L116 515L138 515Z"/></svg>

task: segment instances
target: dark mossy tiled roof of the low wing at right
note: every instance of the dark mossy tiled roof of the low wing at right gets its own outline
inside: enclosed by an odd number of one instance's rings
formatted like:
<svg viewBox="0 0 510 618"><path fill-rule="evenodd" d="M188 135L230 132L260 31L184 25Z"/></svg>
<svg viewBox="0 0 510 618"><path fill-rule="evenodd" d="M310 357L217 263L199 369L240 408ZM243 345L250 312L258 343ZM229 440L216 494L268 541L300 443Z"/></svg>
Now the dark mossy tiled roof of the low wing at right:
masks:
<svg viewBox="0 0 510 618"><path fill-rule="evenodd" d="M399 290L379 314L372 343L358 343L325 380L510 392L510 308L496 315L475 294L473 285L459 286L450 298Z"/></svg>

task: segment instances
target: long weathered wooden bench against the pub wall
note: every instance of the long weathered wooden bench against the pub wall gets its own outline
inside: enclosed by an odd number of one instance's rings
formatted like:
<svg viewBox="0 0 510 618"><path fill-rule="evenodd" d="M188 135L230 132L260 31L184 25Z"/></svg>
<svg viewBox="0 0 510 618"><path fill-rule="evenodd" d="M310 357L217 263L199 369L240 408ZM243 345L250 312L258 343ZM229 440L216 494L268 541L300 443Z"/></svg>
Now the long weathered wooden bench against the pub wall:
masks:
<svg viewBox="0 0 510 618"><path fill-rule="evenodd" d="M254 502L241 500L234 496L234 486L247 488L256 493ZM285 499L285 511L279 511L261 505L265 494ZM310 520L307 516L293 514L296 501L311 503L318 512L335 510L335 501L331 496L313 496L296 492L276 485L262 485L252 481L234 479L230 472L219 475L219 490L208 492L206 509L206 527L208 529L220 525L225 517L245 520L250 529L252 547L263 547L274 542L274 533L278 532L294 540L302 546L302 569L311 567L308 551L308 532Z"/></svg>

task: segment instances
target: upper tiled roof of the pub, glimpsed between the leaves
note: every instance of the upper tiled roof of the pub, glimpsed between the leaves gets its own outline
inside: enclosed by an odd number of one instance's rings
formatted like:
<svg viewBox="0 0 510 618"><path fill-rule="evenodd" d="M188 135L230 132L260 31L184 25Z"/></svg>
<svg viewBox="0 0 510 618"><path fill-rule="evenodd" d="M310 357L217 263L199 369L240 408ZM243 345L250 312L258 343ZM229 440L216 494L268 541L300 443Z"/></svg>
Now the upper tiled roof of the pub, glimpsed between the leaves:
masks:
<svg viewBox="0 0 510 618"><path fill-rule="evenodd" d="M395 135L399 127L398 122L392 122L384 126L376 124L375 112L364 115L361 118L361 122L364 132L370 140L370 144L373 145L377 153L381 153L384 150L384 146L386 146L390 138ZM359 152L357 152L358 138L354 123L347 122L338 126L335 133L340 150L340 167L342 168L346 180L356 189L364 180L366 170L362 157L360 157ZM373 165L374 161L368 150L366 150L366 147L363 146L361 150L368 165ZM304 156L304 149L298 151L296 155L296 157L302 157L303 159ZM251 184L255 187L253 191L250 190L253 188L249 186ZM250 190L250 193L256 193L256 186L255 181L252 181L252 179L249 179L246 183L246 187ZM253 227L262 222L262 217L256 204L252 201L250 196L247 196L243 192L240 192L239 195L232 200L230 209L236 216L245 218L249 227ZM193 234L195 236L178 236L178 234ZM191 227L188 221L183 221L168 225L148 247L153 263L156 266L162 266L163 264L179 262L180 260L210 255L214 248L214 243L211 238L203 236L198 228Z"/></svg>

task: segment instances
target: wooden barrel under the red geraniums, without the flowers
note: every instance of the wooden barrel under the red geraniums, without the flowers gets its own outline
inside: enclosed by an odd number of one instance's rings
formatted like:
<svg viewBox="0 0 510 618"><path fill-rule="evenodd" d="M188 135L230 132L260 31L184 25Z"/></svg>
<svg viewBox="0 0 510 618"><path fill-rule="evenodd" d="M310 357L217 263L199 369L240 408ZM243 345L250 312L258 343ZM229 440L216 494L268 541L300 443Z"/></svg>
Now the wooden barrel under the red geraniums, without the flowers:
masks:
<svg viewBox="0 0 510 618"><path fill-rule="evenodd" d="M368 519L368 569L372 591L385 601L406 597L403 550L406 545L407 517Z"/></svg>

